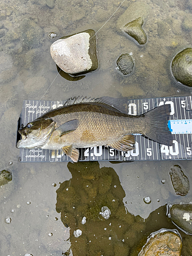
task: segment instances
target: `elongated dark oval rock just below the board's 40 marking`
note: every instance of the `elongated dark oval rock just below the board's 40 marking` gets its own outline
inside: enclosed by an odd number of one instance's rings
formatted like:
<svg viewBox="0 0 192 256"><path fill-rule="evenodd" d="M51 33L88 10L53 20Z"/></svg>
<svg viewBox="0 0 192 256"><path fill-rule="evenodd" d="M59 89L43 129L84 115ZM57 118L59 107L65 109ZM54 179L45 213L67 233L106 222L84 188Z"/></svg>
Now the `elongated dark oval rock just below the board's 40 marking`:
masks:
<svg viewBox="0 0 192 256"><path fill-rule="evenodd" d="M189 180L187 176L184 175L181 167L177 164L173 165L170 168L169 174L176 194L186 196L189 193Z"/></svg>

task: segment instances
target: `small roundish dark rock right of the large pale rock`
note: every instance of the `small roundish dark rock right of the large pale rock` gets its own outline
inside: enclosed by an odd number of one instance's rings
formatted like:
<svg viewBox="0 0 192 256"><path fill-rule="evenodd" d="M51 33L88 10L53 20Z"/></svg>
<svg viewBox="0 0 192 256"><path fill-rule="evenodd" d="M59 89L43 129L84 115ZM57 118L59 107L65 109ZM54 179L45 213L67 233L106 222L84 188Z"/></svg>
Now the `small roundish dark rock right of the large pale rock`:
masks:
<svg viewBox="0 0 192 256"><path fill-rule="evenodd" d="M134 71L134 62L132 57L128 54L121 54L117 60L117 66L123 75L130 75Z"/></svg>

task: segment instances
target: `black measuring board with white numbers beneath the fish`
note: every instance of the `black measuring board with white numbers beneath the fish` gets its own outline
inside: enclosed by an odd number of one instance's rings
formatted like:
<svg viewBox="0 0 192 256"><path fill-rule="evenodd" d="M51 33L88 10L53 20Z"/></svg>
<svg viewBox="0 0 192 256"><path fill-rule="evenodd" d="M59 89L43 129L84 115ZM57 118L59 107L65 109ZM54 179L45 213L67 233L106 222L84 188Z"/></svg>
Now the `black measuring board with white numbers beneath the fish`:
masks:
<svg viewBox="0 0 192 256"><path fill-rule="evenodd" d="M170 117L167 123L173 134L173 145L165 146L135 134L135 149L121 152L110 147L98 146L79 148L79 161L144 161L144 160L191 160L192 142L192 97L165 97L151 99L119 99L127 104L127 112L141 115L163 104L170 105ZM62 106L65 101L24 100L22 113L17 127L17 141L20 139L18 129L45 114ZM71 161L61 150L42 150L41 148L20 148L21 162L62 162Z"/></svg>

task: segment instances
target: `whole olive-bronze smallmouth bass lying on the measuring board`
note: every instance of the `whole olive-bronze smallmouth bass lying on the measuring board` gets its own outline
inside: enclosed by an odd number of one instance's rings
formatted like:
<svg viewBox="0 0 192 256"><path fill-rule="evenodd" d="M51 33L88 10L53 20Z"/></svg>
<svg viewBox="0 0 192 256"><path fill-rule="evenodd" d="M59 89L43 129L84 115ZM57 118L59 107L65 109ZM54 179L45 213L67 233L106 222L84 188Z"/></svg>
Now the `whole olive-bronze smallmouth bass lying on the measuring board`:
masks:
<svg viewBox="0 0 192 256"><path fill-rule="evenodd" d="M80 147L105 145L119 151L133 150L136 133L171 146L169 112L169 105L161 105L142 115L129 115L111 97L72 98L62 107L20 127L22 139L16 147L62 150L77 162Z"/></svg>

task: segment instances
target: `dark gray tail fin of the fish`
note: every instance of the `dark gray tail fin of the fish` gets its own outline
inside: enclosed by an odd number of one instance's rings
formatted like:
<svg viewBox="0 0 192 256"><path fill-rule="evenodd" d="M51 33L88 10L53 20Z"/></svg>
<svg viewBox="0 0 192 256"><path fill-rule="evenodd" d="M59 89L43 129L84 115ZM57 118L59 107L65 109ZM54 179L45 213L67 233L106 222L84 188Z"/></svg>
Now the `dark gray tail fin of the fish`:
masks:
<svg viewBox="0 0 192 256"><path fill-rule="evenodd" d="M144 135L161 144L172 146L172 133L168 129L170 106L161 105L144 114L146 127Z"/></svg>

